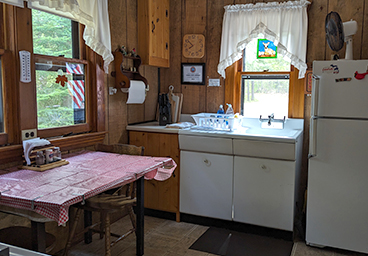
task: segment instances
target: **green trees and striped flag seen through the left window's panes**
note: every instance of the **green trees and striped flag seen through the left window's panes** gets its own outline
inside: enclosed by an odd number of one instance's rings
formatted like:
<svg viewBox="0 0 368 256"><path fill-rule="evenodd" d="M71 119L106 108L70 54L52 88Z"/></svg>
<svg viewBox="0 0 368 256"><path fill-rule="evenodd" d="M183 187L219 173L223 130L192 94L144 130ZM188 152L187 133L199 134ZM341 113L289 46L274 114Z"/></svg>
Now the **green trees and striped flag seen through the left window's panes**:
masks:
<svg viewBox="0 0 368 256"><path fill-rule="evenodd" d="M32 27L35 54L73 57L71 20L32 10ZM36 58L38 129L85 123L84 65L62 62ZM80 71L68 70L68 65ZM67 81L57 83L63 75Z"/></svg>

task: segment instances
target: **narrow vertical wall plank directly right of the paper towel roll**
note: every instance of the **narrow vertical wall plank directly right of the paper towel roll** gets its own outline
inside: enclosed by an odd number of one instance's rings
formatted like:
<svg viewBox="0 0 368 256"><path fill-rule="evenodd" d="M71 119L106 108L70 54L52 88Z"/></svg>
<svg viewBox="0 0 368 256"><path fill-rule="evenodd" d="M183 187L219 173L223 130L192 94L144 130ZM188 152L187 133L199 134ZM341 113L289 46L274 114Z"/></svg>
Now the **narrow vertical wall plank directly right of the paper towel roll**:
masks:
<svg viewBox="0 0 368 256"><path fill-rule="evenodd" d="M156 119L156 107L158 102L158 68L145 66L145 78L148 81L149 91L144 101L144 120L152 121Z"/></svg>

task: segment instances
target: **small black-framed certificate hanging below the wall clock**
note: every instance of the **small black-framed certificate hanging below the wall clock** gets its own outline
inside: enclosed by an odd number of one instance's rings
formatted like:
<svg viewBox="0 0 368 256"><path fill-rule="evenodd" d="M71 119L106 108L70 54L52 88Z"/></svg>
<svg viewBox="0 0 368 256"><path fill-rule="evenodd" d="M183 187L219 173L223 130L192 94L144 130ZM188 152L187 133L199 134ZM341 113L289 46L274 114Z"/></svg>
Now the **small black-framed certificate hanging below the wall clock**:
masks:
<svg viewBox="0 0 368 256"><path fill-rule="evenodd" d="M204 63L182 63L181 83L182 84L205 84L205 64Z"/></svg>

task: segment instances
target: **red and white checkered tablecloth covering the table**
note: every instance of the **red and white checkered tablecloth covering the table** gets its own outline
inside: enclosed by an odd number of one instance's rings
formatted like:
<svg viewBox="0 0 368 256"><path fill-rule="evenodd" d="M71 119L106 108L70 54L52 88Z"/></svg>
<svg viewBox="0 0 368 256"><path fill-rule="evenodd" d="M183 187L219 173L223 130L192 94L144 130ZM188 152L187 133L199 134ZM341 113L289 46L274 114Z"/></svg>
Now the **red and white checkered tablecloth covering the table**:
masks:
<svg viewBox="0 0 368 256"><path fill-rule="evenodd" d="M34 210L59 225L69 207L111 188L145 179L166 180L176 168L167 157L84 151L69 155L68 165L44 172L19 170L0 175L0 204Z"/></svg>

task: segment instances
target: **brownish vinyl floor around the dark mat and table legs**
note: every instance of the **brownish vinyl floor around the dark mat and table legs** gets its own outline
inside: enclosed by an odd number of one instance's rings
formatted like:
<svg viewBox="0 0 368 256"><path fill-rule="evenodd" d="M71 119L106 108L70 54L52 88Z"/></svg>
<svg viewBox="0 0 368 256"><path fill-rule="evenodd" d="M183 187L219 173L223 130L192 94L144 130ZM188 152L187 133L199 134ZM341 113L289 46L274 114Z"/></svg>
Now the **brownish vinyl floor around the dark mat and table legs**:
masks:
<svg viewBox="0 0 368 256"><path fill-rule="evenodd" d="M123 218L112 225L112 231L118 233L130 224ZM145 216L145 256L214 256L209 252L190 249L191 245L201 237L209 227L175 222L166 219ZM271 245L270 245L271 246ZM58 254L59 255L59 254ZM93 236L91 244L83 242L73 246L70 256L103 256L104 239ZM131 235L112 248L112 256L135 256L135 236ZM314 248L305 242L295 242L291 256L368 256L367 254L342 251L331 248ZM254 255L252 255L254 256Z"/></svg>

